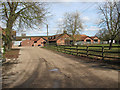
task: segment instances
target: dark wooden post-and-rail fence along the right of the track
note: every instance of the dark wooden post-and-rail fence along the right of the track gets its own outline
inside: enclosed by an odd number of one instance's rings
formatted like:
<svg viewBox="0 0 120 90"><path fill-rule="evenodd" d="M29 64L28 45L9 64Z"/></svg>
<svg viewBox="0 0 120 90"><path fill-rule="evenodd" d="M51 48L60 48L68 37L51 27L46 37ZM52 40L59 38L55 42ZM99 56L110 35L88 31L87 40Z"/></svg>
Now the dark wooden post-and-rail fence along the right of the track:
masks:
<svg viewBox="0 0 120 90"><path fill-rule="evenodd" d="M52 45L54 50L68 53L77 56L87 56L98 59L119 59L120 60L120 46L113 46L109 50L109 46L68 46L68 45Z"/></svg>

